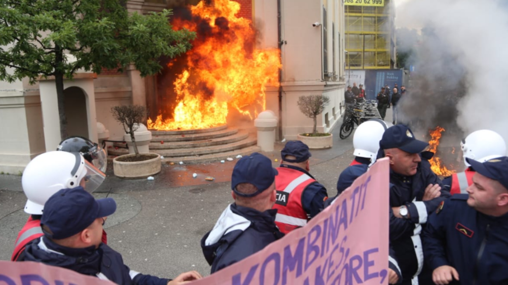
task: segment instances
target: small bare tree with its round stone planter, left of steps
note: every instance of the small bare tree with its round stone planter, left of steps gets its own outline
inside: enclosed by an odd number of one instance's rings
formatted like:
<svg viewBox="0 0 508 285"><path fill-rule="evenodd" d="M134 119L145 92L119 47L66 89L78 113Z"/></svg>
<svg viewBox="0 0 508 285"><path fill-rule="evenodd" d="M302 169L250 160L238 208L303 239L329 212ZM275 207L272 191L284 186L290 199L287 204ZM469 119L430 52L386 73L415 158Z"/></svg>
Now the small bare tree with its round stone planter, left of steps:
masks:
<svg viewBox="0 0 508 285"><path fill-rule="evenodd" d="M113 159L113 173L121 178L142 178L161 172L161 156L155 153L139 153L136 130L146 119L146 108L140 105L121 105L111 108L113 118L121 123L131 137L134 154Z"/></svg>

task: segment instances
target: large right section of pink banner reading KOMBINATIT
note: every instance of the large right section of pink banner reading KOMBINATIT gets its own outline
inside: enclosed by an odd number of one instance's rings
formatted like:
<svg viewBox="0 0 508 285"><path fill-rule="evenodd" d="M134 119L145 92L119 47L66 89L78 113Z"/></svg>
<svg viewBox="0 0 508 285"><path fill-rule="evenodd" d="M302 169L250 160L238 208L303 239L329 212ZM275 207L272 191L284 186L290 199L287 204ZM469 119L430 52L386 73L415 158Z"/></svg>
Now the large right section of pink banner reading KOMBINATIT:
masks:
<svg viewBox="0 0 508 285"><path fill-rule="evenodd" d="M388 284L388 207L380 159L305 227L192 284Z"/></svg>

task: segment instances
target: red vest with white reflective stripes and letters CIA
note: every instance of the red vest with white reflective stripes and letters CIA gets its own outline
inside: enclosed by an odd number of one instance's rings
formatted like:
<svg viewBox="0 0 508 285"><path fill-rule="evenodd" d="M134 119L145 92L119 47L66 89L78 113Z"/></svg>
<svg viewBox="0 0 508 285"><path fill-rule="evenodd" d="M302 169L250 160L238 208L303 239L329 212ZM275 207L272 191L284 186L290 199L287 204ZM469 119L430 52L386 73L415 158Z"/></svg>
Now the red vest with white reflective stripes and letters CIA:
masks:
<svg viewBox="0 0 508 285"><path fill-rule="evenodd" d="M284 234L307 224L308 216L302 206L302 194L305 188L315 182L309 175L296 169L277 167L275 176L277 200L273 205L277 209L275 224Z"/></svg>

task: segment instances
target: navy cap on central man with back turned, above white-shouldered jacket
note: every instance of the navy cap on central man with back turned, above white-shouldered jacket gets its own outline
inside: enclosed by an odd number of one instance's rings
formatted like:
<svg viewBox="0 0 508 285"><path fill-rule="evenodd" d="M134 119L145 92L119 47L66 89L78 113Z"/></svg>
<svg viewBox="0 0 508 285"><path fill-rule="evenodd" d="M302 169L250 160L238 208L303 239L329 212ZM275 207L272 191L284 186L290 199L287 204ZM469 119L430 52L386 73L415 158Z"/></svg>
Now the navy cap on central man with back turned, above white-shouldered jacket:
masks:
<svg viewBox="0 0 508 285"><path fill-rule="evenodd" d="M275 181L277 169L272 167L272 161L260 154L252 153L238 160L231 176L231 189L241 197L254 197L265 191ZM245 194L238 192L236 186L240 183L250 183L258 189L255 193Z"/></svg>

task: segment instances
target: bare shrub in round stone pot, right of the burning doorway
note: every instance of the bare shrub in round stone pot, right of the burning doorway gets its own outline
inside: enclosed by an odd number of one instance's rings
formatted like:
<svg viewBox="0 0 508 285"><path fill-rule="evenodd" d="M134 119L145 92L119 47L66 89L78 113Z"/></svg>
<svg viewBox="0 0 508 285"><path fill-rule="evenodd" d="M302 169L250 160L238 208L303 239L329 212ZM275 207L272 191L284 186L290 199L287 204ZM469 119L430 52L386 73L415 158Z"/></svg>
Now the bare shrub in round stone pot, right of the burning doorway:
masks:
<svg viewBox="0 0 508 285"><path fill-rule="evenodd" d="M330 104L330 98L325 95L307 95L298 98L298 108L307 117L314 121L311 133L300 133L298 139L309 146L309 149L326 149L332 147L333 135L331 133L317 132L317 115Z"/></svg>

